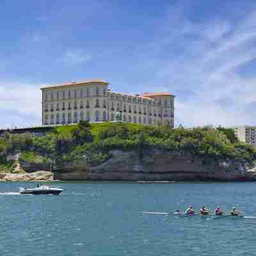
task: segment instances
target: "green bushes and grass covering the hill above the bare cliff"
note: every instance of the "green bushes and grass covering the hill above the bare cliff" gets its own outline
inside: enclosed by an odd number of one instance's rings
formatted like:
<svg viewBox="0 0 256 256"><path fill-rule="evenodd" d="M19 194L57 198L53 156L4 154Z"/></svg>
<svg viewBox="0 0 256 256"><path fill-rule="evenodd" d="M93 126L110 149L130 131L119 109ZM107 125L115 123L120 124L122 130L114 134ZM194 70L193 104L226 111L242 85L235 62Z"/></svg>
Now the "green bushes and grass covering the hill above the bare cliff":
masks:
<svg viewBox="0 0 256 256"><path fill-rule="evenodd" d="M45 163L54 159L63 163L83 158L99 164L110 157L110 150L148 149L190 152L202 159L236 160L252 163L256 150L239 143L232 129L201 127L170 129L167 125L102 123L61 125L40 138L29 134L5 134L0 138L0 163L7 154L21 151L20 159L31 163Z"/></svg>

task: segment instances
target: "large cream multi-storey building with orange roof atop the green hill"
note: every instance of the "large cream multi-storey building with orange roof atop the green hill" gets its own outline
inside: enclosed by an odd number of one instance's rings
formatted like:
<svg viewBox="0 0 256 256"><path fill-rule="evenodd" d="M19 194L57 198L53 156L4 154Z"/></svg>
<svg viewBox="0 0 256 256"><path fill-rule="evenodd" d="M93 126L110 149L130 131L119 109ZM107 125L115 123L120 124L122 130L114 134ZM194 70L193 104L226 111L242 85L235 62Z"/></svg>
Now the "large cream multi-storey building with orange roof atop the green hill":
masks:
<svg viewBox="0 0 256 256"><path fill-rule="evenodd" d="M42 125L113 122L118 113L122 122L174 126L174 95L129 95L108 85L93 79L42 87Z"/></svg>

